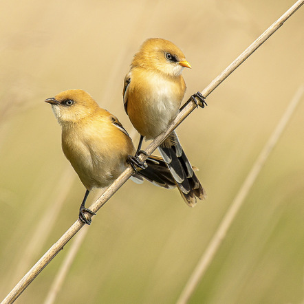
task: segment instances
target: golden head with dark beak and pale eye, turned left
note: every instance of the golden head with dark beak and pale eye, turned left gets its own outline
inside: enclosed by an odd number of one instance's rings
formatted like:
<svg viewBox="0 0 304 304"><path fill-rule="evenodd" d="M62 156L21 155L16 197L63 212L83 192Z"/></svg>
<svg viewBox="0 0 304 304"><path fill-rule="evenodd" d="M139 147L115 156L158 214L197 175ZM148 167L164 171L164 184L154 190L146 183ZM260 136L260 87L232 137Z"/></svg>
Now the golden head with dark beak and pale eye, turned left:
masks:
<svg viewBox="0 0 304 304"><path fill-rule="evenodd" d="M86 91L69 89L47 98L45 102L52 105L52 110L60 124L77 123L90 116L98 104Z"/></svg>

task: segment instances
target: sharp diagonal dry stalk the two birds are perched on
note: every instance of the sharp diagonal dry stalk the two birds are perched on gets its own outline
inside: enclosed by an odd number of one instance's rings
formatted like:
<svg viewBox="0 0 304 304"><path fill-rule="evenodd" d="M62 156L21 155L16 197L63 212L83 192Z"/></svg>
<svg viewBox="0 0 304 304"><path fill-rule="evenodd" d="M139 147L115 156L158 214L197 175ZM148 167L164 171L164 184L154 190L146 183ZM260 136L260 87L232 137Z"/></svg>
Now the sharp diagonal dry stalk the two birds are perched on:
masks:
<svg viewBox="0 0 304 304"><path fill-rule="evenodd" d="M304 0L298 0L294 6L292 6L285 14L283 14L275 23L273 23L268 30L265 30L259 38L254 41L235 61L233 61L226 69L224 69L217 78L215 78L210 85L208 85L203 91L202 95L207 97L220 83L222 83L243 61L245 61L259 46L262 45L281 25L290 17L298 8L304 3ZM175 129L194 109L196 108L195 102L188 100L182 111L178 113L177 117L170 124L169 128L161 133L146 149L147 154L151 154L158 146L164 141L164 139ZM146 155L140 155L142 160L147 158ZM107 190L100 195L100 197L92 204L89 208L96 213L108 200L109 198L118 191L118 189L129 180L133 170L131 167L124 170L124 172L117 178L116 181L107 188ZM88 215L91 217L91 215ZM76 235L78 230L84 226L80 219L77 219L75 223L65 232L65 234L54 243L54 245L45 252L43 257L30 269L30 271L23 276L21 281L12 289L10 294L1 302L1 304L13 303L18 296L25 290L28 285L38 276L38 274L45 268L45 266L56 257L56 254L63 249L63 246Z"/></svg>

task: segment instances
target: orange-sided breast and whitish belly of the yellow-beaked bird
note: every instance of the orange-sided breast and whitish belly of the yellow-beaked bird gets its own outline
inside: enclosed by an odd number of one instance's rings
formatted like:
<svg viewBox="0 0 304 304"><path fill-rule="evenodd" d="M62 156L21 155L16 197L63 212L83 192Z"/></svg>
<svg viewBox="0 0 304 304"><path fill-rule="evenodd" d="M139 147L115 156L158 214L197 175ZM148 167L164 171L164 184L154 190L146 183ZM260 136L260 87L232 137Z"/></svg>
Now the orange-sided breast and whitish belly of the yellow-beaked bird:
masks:
<svg viewBox="0 0 304 304"><path fill-rule="evenodd" d="M186 85L182 76L133 69L127 91L127 112L138 132L150 140L164 131L177 115Z"/></svg>

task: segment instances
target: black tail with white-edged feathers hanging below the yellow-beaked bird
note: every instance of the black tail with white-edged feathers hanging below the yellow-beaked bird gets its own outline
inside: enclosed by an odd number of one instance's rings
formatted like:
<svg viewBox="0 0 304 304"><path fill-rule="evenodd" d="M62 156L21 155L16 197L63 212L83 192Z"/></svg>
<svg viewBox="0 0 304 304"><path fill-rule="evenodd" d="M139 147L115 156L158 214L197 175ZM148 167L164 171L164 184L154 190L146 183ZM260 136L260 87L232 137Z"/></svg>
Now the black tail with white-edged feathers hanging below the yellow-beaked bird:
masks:
<svg viewBox="0 0 304 304"><path fill-rule="evenodd" d="M175 180L180 194L188 206L194 207L197 198L205 199L206 192L193 172L175 131L158 149Z"/></svg>

